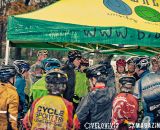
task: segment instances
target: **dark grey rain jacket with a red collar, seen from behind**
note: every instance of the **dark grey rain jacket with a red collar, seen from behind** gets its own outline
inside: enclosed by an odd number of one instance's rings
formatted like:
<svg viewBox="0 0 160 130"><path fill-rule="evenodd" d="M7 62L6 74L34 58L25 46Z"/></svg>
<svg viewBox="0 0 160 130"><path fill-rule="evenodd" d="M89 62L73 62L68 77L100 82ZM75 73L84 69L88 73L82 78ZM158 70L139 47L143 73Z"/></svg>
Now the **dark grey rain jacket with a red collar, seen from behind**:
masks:
<svg viewBox="0 0 160 130"><path fill-rule="evenodd" d="M112 101L115 96L114 87L97 86L95 90L82 98L74 115L74 126L80 129L85 123L111 122ZM94 129L94 128L89 128Z"/></svg>

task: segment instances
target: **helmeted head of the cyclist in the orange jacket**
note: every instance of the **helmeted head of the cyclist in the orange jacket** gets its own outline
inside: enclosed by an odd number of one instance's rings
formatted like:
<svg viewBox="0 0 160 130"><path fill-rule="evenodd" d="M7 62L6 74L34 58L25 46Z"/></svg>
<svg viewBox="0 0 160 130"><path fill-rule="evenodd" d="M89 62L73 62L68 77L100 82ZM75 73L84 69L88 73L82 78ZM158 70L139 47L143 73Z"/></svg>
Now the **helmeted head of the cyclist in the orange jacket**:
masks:
<svg viewBox="0 0 160 130"><path fill-rule="evenodd" d="M14 66L4 65L0 68L0 82L14 85L17 70Z"/></svg>

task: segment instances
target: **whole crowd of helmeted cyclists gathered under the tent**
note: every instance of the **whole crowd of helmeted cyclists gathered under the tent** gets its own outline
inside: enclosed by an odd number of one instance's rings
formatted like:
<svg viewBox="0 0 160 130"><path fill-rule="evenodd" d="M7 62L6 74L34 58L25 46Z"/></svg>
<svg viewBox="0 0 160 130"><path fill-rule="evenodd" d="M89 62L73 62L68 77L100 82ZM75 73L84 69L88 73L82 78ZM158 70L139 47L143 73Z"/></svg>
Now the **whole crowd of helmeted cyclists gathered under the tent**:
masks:
<svg viewBox="0 0 160 130"><path fill-rule="evenodd" d="M32 66L24 60L0 66L1 130L20 129L20 120L26 130L125 130L160 123L159 54L118 59L116 72L108 61L89 65L77 50L69 51L65 64L48 58L47 50L37 56Z"/></svg>

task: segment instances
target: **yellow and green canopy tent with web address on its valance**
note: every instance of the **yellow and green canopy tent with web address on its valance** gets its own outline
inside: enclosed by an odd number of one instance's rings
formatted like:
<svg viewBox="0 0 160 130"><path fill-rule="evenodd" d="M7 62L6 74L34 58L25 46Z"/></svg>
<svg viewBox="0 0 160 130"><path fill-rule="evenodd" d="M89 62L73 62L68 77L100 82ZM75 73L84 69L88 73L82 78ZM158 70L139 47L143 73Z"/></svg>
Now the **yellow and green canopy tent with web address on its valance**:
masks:
<svg viewBox="0 0 160 130"><path fill-rule="evenodd" d="M60 0L10 16L7 38L13 47L90 51L124 44L147 50L160 47L159 9L160 0Z"/></svg>

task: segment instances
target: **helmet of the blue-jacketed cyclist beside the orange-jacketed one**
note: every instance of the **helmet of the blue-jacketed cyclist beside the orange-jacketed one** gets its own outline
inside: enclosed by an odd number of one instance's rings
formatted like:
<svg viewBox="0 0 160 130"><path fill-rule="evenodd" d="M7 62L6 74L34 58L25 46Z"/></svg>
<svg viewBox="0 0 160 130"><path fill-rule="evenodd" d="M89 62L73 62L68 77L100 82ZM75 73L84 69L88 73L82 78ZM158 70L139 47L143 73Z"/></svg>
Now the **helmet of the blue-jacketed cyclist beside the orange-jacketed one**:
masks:
<svg viewBox="0 0 160 130"><path fill-rule="evenodd" d="M23 74L26 71L29 71L30 65L25 60L15 60L13 62L13 65L15 66L17 72L19 74Z"/></svg>

